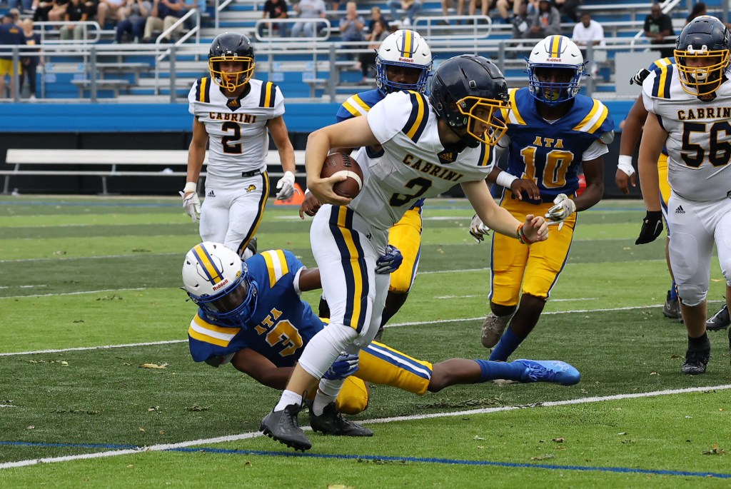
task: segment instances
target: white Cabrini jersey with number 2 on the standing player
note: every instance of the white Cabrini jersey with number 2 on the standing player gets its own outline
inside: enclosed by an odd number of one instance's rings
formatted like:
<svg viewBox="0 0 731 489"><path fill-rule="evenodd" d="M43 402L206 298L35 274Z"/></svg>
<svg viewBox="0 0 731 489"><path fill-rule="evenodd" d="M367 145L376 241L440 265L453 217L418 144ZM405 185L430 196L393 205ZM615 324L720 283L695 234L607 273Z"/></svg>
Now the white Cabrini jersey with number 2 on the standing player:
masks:
<svg viewBox="0 0 731 489"><path fill-rule="evenodd" d="M269 149L267 123L284 114L284 96L274 83L249 80L251 89L241 99L229 99L221 87L203 77L188 94L188 111L208 132L208 175L240 177L266 171Z"/></svg>

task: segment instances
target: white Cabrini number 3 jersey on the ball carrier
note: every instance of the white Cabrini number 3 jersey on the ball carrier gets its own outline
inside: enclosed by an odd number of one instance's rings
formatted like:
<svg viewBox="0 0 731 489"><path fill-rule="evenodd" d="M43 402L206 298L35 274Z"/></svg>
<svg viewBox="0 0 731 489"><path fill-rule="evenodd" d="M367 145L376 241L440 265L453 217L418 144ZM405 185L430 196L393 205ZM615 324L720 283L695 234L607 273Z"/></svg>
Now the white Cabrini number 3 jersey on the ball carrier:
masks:
<svg viewBox="0 0 731 489"><path fill-rule="evenodd" d="M465 181L484 180L493 168L493 148L449 151L442 146L436 113L423 94L389 94L366 115L379 154L360 148L363 190L349 207L382 230L392 227L417 200L447 192Z"/></svg>

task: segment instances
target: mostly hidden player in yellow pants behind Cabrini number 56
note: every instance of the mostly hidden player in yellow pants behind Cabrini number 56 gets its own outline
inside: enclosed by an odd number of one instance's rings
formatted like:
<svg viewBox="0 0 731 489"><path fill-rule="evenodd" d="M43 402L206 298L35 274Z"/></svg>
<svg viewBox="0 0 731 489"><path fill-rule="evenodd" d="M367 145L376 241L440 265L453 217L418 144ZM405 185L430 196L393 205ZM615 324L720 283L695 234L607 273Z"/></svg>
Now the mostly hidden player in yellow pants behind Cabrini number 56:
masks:
<svg viewBox="0 0 731 489"><path fill-rule="evenodd" d="M640 69L637 74L630 79L629 83L636 83L642 85L645 78L650 72L662 72L664 67L668 64L674 64L675 58L662 58L654 61L648 69ZM647 119L647 109L643 102L643 96L637 97L635 105L632 105L632 109L629 110L627 117L624 121L624 130L620 140L619 148L619 160L617 173L615 175L615 181L619 189L624 194L629 194L629 185L635 186L635 169L632 167L632 153L635 151L637 143L640 141L642 135L642 129ZM657 160L657 172L658 181L660 185L660 205L662 206L662 216L667 224L667 200L670 199L670 183L667 181L667 151L663 148L660 157ZM647 239L656 232L658 227L662 227L660 222L660 215L656 212L648 212L645 216L645 222L643 223L643 233L637 238L635 244L648 243ZM667 239L665 240L665 260L667 261L667 270L670 272L670 278L673 278L673 270L670 269L670 227L667 228ZM731 296L731 287L726 287L726 297ZM665 303L662 308L662 314L670 319L679 319L681 322L683 318L680 311L680 303L678 301L678 292L675 287L675 279L673 278L673 284L670 290L667 291L665 297ZM716 314L713 314L710 319L705 323L705 327L708 330L724 330L731 325L731 317L729 316L729 309L726 304L722 306Z"/></svg>

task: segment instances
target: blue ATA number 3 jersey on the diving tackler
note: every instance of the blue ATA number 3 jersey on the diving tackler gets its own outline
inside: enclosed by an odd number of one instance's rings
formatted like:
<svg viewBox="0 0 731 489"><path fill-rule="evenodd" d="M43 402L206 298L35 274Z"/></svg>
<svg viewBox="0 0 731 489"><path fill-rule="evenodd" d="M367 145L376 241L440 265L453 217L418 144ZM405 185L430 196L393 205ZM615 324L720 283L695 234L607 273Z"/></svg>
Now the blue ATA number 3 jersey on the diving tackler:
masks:
<svg viewBox="0 0 731 489"><path fill-rule="evenodd" d="M324 327L295 289L295 276L304 265L283 250L256 254L246 265L257 289L251 319L246 324L227 324L199 309L188 330L193 360L203 362L250 348L277 367L292 367L303 346Z"/></svg>

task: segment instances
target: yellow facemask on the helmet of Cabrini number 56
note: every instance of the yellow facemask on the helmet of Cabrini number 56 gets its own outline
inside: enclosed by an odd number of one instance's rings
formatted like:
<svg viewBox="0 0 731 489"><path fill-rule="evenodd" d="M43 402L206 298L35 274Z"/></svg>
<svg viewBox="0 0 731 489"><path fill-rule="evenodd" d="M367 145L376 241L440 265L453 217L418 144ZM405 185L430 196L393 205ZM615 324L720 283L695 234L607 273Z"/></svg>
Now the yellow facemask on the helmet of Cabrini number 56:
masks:
<svg viewBox="0 0 731 489"><path fill-rule="evenodd" d="M708 50L705 45L700 49L694 49L690 45L685 50L676 49L673 54L681 86L688 94L711 95L721 86L723 74L729 67L729 50ZM695 61L705 61L705 63L700 63L705 66L689 66L689 64L696 65Z"/></svg>

